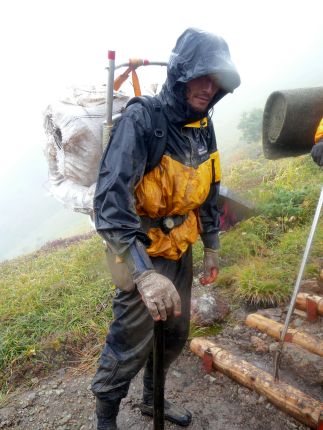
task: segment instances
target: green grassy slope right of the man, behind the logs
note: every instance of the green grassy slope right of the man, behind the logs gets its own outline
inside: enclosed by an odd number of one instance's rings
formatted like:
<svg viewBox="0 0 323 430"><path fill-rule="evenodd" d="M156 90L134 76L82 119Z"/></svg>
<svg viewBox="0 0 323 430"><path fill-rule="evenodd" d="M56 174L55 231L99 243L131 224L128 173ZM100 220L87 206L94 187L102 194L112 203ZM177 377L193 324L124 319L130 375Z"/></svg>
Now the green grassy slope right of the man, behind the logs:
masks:
<svg viewBox="0 0 323 430"><path fill-rule="evenodd" d="M252 200L258 215L223 235L220 256L225 269L217 283L233 288L235 298L255 306L284 303L300 267L322 173L304 156L275 162L241 160L227 174L227 185ZM322 243L320 223L307 276L319 272Z"/></svg>

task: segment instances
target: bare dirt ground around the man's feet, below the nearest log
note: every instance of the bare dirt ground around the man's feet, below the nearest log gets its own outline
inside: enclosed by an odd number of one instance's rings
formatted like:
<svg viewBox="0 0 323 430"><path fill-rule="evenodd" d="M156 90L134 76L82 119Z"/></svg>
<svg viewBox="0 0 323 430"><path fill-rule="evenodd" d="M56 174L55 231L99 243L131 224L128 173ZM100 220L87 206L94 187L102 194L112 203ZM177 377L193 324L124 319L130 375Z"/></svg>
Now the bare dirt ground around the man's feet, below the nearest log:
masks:
<svg viewBox="0 0 323 430"><path fill-rule="evenodd" d="M91 375L73 376L61 369L36 382L28 391L13 395L0 410L1 429L90 430L94 399L89 390ZM118 418L120 430L152 428L151 419L141 415L141 374L133 381ZM206 375L201 361L188 351L174 363L166 387L168 399L193 413L190 429L278 430L306 429L280 412L265 398L214 372ZM178 428L166 424L166 429Z"/></svg>

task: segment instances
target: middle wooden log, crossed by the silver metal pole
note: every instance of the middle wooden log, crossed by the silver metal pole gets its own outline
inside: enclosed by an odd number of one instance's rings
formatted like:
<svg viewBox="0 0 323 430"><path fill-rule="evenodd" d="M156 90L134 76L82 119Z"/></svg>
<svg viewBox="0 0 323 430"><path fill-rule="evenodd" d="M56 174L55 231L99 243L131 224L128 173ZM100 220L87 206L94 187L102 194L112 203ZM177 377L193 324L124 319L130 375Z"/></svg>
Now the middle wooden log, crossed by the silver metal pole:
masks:
<svg viewBox="0 0 323 430"><path fill-rule="evenodd" d="M256 328L277 340L280 339L280 334L284 327L283 324L266 318L260 314L249 314L246 318L246 324L249 327ZM307 333L290 328L287 331L285 341L295 343L313 354L323 357L323 341L320 341Z"/></svg>

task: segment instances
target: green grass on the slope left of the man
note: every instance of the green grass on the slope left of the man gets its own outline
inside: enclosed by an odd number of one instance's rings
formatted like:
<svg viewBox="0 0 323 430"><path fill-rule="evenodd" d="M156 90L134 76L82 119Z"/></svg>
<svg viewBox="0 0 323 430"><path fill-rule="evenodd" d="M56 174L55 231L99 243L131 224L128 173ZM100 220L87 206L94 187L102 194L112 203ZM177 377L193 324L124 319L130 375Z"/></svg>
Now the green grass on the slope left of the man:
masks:
<svg viewBox="0 0 323 430"><path fill-rule="evenodd" d="M1 264L1 386L103 340L114 290L104 258L94 236Z"/></svg>

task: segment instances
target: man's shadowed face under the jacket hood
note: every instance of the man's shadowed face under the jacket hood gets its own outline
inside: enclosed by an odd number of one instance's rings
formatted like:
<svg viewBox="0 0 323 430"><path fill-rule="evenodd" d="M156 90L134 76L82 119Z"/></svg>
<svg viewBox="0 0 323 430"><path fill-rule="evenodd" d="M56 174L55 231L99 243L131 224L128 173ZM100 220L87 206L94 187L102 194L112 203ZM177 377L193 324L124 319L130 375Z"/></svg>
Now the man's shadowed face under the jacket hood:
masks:
<svg viewBox="0 0 323 430"><path fill-rule="evenodd" d="M197 112L206 112L208 105L219 91L212 76L201 76L186 83L187 103Z"/></svg>

